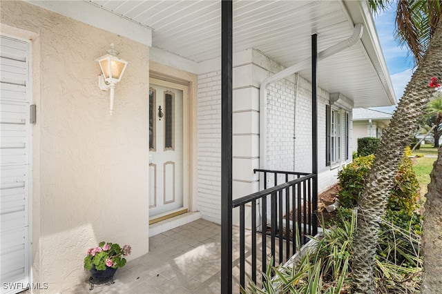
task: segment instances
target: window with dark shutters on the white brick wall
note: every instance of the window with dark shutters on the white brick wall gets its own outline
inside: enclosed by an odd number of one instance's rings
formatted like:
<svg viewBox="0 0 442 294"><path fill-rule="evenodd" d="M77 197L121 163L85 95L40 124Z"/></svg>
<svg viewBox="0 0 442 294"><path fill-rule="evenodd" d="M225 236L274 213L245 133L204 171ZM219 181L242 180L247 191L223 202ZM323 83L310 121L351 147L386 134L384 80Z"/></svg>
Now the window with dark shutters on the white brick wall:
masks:
<svg viewBox="0 0 442 294"><path fill-rule="evenodd" d="M350 118L348 112L327 105L325 120L325 161L330 166L349 158Z"/></svg>

